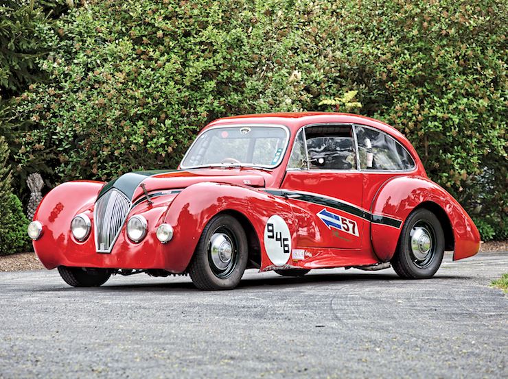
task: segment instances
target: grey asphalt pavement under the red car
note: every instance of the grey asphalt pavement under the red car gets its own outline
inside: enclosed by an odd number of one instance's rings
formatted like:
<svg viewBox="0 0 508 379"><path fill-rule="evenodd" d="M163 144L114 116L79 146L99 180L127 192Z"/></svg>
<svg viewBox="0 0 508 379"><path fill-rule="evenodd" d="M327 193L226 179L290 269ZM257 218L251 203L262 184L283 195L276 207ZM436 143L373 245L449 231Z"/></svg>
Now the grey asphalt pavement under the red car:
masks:
<svg viewBox="0 0 508 379"><path fill-rule="evenodd" d="M508 252L392 269L246 271L74 289L56 270L0 273L0 378L508 378Z"/></svg>

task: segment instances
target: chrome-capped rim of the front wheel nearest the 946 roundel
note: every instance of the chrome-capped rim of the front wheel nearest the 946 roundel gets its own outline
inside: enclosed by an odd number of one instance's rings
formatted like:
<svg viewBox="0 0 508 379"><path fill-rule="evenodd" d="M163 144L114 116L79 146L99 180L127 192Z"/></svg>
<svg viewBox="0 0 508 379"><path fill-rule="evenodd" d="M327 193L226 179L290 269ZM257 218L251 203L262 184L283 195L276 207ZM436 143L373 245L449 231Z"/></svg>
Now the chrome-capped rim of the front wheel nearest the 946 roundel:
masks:
<svg viewBox="0 0 508 379"><path fill-rule="evenodd" d="M218 278L227 278L236 266L238 243L234 235L224 228L216 230L208 245L208 260L211 271Z"/></svg>

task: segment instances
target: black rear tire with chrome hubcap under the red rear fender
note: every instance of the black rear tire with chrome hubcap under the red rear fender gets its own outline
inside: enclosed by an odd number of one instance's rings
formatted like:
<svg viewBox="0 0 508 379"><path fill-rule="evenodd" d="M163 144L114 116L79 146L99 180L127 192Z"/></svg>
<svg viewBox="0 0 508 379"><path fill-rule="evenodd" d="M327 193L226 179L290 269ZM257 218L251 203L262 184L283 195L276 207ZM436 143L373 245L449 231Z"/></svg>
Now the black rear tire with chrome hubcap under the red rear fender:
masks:
<svg viewBox="0 0 508 379"><path fill-rule="evenodd" d="M401 278L431 278L441 265L444 249L441 223L430 210L419 208L404 223L391 265Z"/></svg>

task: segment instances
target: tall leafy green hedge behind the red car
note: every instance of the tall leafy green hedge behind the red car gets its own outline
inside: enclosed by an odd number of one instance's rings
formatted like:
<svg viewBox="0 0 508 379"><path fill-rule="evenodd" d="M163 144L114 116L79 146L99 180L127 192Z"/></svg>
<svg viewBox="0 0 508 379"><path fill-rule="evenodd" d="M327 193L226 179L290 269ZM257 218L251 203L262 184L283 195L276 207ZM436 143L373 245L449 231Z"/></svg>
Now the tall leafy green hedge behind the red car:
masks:
<svg viewBox="0 0 508 379"><path fill-rule="evenodd" d="M430 177L506 238L503 1L91 1L56 24L49 82L13 102L19 175L54 184L176 167L217 117L326 110L404 132ZM21 126L20 126L21 125ZM494 233L488 232L489 228Z"/></svg>

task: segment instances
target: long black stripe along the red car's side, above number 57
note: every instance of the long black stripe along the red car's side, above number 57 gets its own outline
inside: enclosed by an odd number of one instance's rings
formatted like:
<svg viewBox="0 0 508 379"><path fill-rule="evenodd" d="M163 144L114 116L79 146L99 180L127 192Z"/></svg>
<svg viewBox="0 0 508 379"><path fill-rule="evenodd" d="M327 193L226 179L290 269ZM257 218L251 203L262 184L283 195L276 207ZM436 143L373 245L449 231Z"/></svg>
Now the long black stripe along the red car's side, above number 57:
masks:
<svg viewBox="0 0 508 379"><path fill-rule="evenodd" d="M321 204L322 206L342 210L343 212L347 212L350 215L362 217L362 219L366 219L367 221L371 221L373 223L389 225L395 228L400 228L400 225L402 225L402 221L400 220L392 219L391 217L386 216L372 215L370 212L367 212L362 208L352 206L351 204L347 204L338 199L329 199L327 197L319 195L310 195L308 193L301 193L297 191L281 191L281 190L265 190L265 191L267 193L270 193L270 195L290 197L295 200L307 201L308 203Z"/></svg>

